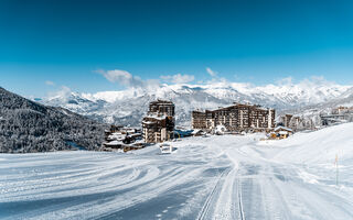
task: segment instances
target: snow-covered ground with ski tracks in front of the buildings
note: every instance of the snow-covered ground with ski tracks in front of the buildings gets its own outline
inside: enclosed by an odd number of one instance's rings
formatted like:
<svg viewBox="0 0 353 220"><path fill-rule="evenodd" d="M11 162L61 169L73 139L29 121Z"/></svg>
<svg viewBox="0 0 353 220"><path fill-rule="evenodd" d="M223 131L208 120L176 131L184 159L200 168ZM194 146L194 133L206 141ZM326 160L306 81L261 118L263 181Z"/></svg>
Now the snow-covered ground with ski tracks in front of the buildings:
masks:
<svg viewBox="0 0 353 220"><path fill-rule="evenodd" d="M353 219L352 131L190 138L171 155L1 154L0 219Z"/></svg>

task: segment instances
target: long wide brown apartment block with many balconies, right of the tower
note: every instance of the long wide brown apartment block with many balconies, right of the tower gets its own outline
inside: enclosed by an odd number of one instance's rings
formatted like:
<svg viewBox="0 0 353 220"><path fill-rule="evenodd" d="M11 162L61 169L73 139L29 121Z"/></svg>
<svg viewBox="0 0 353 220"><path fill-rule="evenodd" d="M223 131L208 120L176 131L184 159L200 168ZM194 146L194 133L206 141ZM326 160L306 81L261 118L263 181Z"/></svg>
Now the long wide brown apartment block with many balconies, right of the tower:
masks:
<svg viewBox="0 0 353 220"><path fill-rule="evenodd" d="M256 105L234 103L216 110L192 111L192 128L228 132L271 131L275 128L275 110Z"/></svg>

